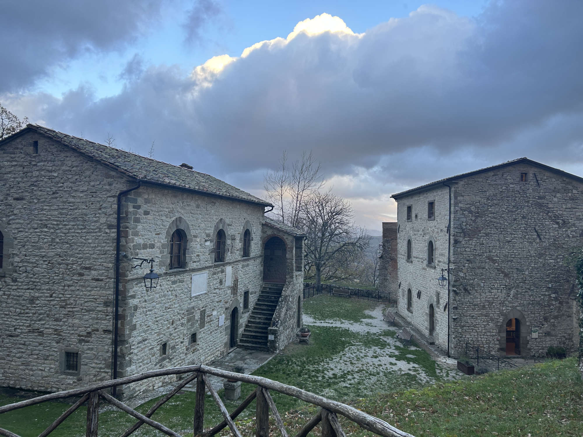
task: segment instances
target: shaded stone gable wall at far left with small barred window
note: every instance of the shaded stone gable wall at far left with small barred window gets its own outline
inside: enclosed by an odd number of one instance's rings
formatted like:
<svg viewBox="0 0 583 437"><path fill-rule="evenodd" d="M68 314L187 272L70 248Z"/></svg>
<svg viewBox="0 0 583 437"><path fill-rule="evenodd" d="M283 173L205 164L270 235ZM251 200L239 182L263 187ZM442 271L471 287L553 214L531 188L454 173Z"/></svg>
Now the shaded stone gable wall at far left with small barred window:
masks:
<svg viewBox="0 0 583 437"><path fill-rule="evenodd" d="M134 184L37 133L0 146L0 386L111 378L116 198ZM65 350L79 372L62 369Z"/></svg>

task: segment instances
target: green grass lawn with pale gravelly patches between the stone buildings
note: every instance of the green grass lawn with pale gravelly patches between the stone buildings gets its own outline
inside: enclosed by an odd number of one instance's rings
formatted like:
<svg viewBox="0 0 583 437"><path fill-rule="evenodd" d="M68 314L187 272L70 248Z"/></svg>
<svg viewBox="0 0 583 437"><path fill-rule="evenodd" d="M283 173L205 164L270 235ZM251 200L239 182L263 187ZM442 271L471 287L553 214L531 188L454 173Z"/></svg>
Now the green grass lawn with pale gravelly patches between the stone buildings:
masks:
<svg viewBox="0 0 583 437"><path fill-rule="evenodd" d="M417 436L583 435L578 422L582 418L583 383L574 359L447 382L438 378L436 364L425 351L415 345L402 346L394 339L395 331L379 323L377 305L327 295L305 301L311 344L290 344L254 375L345 401ZM243 384L240 401L254 387ZM318 410L279 393L272 396L290 435ZM0 394L0 404L19 400L22 397ZM136 409L143 413L155 401ZM240 401L225 404L232 411ZM174 396L153 419L187 434L192 429L194 404L192 392ZM51 402L2 414L0 427L22 437L37 436L68 406ZM243 435L254 434L254 411L252 403L238 418ZM52 435L84 435L85 415L86 408L79 408ZM100 436L117 437L134 421L120 411L104 411L99 418ZM209 395L205 428L220 421L222 416ZM341 421L347 434L365 434ZM163 434L143 425L135 435ZM222 435L229 435L229 429Z"/></svg>

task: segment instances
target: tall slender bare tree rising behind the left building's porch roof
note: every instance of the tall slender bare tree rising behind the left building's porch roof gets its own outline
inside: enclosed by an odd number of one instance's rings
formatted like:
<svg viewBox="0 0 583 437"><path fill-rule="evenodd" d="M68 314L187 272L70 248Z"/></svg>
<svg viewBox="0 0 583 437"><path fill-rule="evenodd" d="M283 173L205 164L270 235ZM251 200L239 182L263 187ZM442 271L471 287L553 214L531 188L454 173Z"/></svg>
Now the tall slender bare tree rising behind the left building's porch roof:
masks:
<svg viewBox="0 0 583 437"><path fill-rule="evenodd" d="M312 152L303 151L301 158L291 167L287 164L287 152L279 158L279 167L264 175L267 197L275 208L273 214L278 220L297 227L304 203L322 188L324 180L320 174L320 164Z"/></svg>

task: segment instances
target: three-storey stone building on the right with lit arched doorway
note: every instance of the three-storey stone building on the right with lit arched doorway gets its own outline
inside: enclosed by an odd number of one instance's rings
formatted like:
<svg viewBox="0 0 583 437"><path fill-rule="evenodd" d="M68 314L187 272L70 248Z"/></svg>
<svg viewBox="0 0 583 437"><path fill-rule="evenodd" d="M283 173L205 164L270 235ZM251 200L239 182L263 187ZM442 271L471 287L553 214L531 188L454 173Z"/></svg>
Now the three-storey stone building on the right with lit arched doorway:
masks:
<svg viewBox="0 0 583 437"><path fill-rule="evenodd" d="M580 312L564 257L583 244L583 178L519 158L392 197L398 312L430 341L454 357L466 343L574 351Z"/></svg>

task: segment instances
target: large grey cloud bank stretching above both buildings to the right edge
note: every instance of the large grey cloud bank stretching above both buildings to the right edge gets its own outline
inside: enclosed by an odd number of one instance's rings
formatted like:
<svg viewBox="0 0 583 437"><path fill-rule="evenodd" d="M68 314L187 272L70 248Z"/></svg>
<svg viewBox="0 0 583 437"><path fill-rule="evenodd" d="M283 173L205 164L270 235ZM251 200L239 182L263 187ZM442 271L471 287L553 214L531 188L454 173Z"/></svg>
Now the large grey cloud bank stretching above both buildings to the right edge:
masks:
<svg viewBox="0 0 583 437"><path fill-rule="evenodd" d="M549 142L555 163L581 161L570 154L583 138L582 15L580 1L492 2L476 20L424 6L362 37L264 45L209 87L152 67L118 96L45 96L38 118L100 141L111 132L144 154L155 139L156 157L219 177L271 167L283 149L403 188L548 157Z"/></svg>

